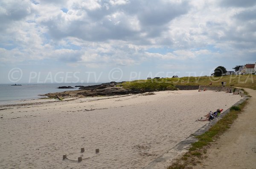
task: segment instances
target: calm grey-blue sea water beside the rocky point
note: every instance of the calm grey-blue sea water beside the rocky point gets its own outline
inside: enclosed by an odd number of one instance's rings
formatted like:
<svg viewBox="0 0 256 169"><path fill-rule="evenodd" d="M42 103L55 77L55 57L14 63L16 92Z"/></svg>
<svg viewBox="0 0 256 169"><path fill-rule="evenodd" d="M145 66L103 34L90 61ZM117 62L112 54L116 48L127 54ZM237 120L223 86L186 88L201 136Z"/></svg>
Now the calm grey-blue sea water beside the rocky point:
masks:
<svg viewBox="0 0 256 169"><path fill-rule="evenodd" d="M92 86L101 83L36 83L21 84L22 86L12 86L13 84L0 84L0 104L9 103L14 100L36 99L47 93L64 92L78 90L75 86ZM58 89L59 86L71 86L75 89Z"/></svg>

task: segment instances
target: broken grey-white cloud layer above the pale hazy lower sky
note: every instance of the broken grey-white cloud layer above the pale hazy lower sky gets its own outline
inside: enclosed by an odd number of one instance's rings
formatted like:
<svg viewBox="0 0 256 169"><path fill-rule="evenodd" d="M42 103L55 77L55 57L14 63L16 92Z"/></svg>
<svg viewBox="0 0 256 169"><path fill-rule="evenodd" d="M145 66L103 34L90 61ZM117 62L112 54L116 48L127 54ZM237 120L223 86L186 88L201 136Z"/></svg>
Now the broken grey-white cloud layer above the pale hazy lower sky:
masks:
<svg viewBox="0 0 256 169"><path fill-rule="evenodd" d="M256 54L252 0L37 2L1 3L1 63L48 59L73 66L131 66L155 58L214 60L230 54L249 61ZM172 51L163 54L164 47ZM147 52L151 48L159 51Z"/></svg>

